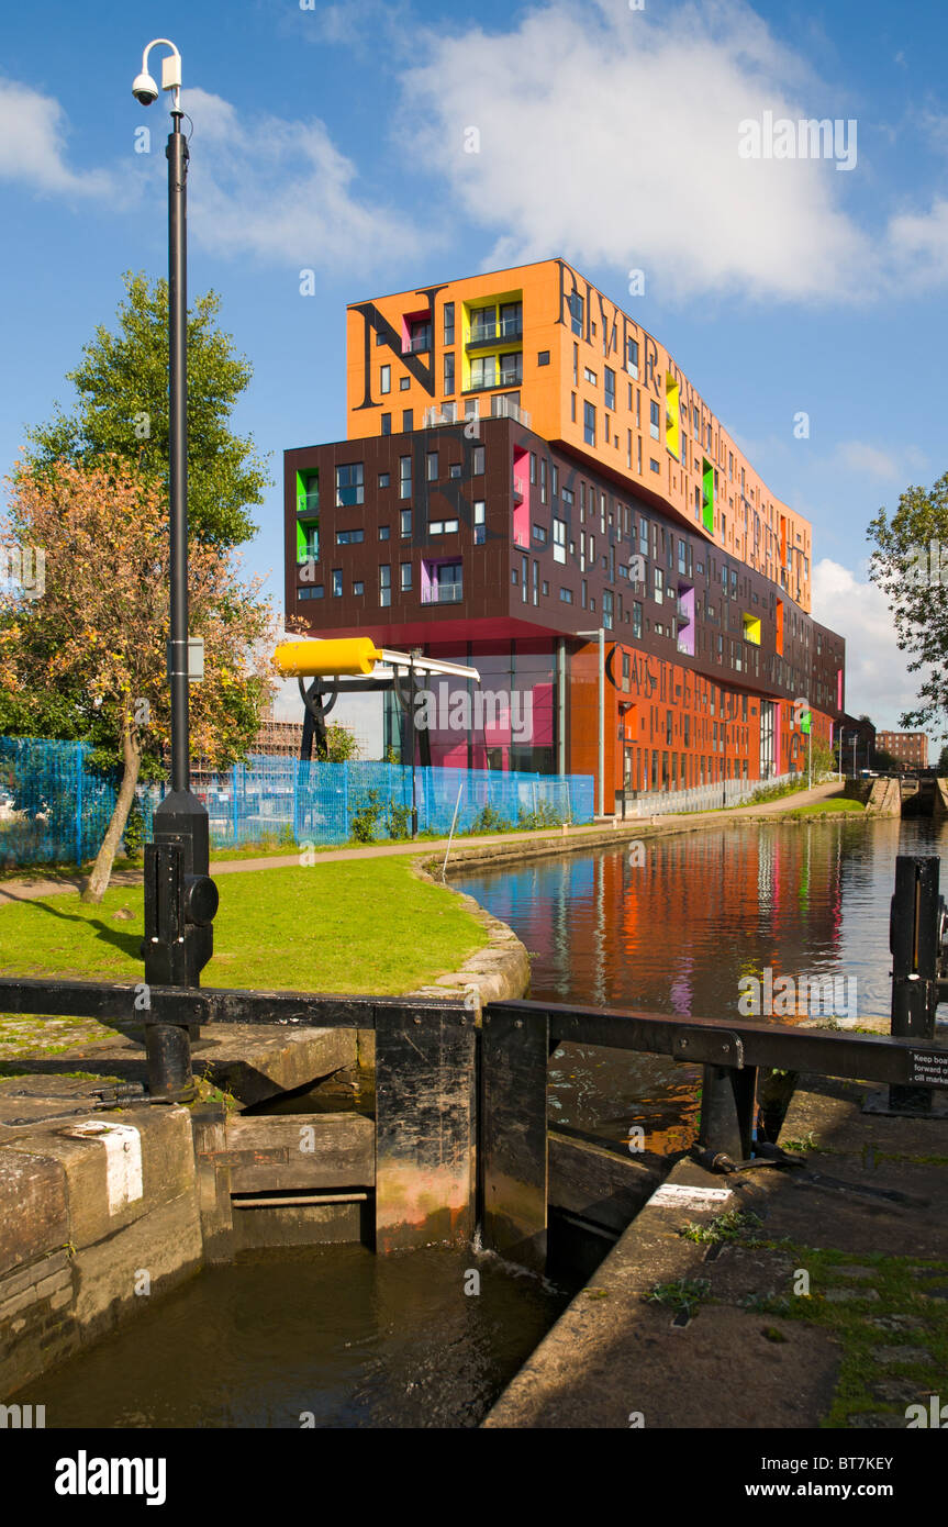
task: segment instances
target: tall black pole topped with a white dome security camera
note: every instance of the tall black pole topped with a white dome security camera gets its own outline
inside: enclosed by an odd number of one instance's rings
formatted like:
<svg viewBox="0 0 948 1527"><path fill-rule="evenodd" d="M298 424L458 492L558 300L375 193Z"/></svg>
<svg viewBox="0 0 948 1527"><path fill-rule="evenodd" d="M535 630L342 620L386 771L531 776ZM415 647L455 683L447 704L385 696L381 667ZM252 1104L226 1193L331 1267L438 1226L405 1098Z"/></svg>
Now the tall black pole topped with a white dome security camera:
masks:
<svg viewBox="0 0 948 1527"><path fill-rule="evenodd" d="M163 44L162 89L174 93L168 136L168 489L171 521L171 611L168 683L171 687L171 793L154 812L154 841L145 847L145 985L197 986L214 953L217 886L208 870L208 812L191 793L188 738L188 144L182 133L182 58L168 38L156 38L142 55L133 84L140 105L159 98L148 73L148 53ZM154 1102L194 1095L191 1040L197 1026L182 1022L145 1025L148 1087Z"/></svg>

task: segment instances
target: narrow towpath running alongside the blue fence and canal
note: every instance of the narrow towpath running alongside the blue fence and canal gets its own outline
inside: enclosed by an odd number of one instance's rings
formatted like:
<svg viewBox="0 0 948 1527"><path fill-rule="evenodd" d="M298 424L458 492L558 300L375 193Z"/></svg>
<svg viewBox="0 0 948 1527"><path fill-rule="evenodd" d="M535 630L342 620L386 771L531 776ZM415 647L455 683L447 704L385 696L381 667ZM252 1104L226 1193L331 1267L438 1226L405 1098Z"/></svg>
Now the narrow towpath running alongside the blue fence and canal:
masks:
<svg viewBox="0 0 948 1527"><path fill-rule="evenodd" d="M733 806L728 811L692 811L692 812L669 812L666 815L658 812L650 812L641 817L626 817L621 818L605 818L597 823L585 823L579 828L566 828L557 831L540 831L540 832L492 832L482 837L473 838L455 838L452 843L452 854L455 849L463 847L484 847L507 843L569 843L571 846L582 843L583 838L601 838L603 831L609 831L614 826L617 831L623 829L632 832L637 828L647 828L649 825L669 828L675 826L699 826L708 822L733 822L742 817L765 817L774 815L782 811L797 809L798 806L806 806L809 802L824 800L827 796L835 796L840 791L837 780L830 780L826 785L815 785L812 789L798 791L794 796L785 796L780 800L766 802L762 806ZM655 797L656 800L659 797ZM646 797L643 797L643 805ZM339 847L327 849L324 852L316 852L316 864L336 864L340 860L363 860L363 858L383 858L392 854L444 854L447 849L447 838L421 838L415 843L372 843L365 847ZM299 854L278 854L269 858L243 858L243 860L218 860L212 861L212 875L235 875L243 870L250 869L284 869L299 864ZM0 907L9 901L38 901L44 896L58 896L70 890L81 890L85 876L81 873L63 875L56 880L31 880L27 876L0 881ZM140 869L119 869L113 870L111 886L140 886L142 870Z"/></svg>

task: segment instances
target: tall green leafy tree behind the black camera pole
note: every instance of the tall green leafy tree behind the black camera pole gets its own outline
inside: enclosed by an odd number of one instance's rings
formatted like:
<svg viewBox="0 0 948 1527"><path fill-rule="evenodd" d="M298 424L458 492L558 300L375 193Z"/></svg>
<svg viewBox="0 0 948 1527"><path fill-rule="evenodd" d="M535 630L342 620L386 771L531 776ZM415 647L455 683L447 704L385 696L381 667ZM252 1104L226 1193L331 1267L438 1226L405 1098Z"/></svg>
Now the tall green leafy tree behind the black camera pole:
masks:
<svg viewBox="0 0 948 1527"><path fill-rule="evenodd" d="M55 473L58 463L96 466L118 457L168 495L168 282L122 276L114 333L99 325L82 360L67 373L78 400L66 414L26 432L24 470ZM217 327L220 298L206 292L188 315L188 521L194 541L235 547L255 525L247 505L261 504L272 481L253 437L227 428L252 377Z"/></svg>

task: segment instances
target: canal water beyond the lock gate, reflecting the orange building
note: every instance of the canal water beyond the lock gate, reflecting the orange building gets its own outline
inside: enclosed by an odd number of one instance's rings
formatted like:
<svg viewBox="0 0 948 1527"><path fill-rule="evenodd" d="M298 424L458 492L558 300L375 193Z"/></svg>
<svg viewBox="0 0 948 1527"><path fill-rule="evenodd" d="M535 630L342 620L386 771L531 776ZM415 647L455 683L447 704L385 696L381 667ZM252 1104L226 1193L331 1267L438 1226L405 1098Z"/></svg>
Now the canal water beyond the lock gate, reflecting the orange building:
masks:
<svg viewBox="0 0 948 1527"><path fill-rule="evenodd" d="M539 1000L737 1017L740 979L762 980L769 967L774 980L850 979L840 1026L887 1028L896 854L939 854L946 832L925 817L746 822L455 884L524 941ZM699 1077L658 1057L565 1044L551 1066L551 1119L614 1141L644 1128L649 1150L684 1150Z"/></svg>

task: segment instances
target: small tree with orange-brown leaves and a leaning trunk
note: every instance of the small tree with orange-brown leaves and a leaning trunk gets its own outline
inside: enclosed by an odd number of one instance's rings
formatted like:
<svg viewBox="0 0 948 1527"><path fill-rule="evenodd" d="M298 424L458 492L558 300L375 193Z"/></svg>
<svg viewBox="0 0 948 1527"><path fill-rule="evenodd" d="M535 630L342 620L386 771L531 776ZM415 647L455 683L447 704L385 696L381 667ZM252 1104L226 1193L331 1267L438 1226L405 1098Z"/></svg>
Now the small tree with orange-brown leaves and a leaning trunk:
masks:
<svg viewBox="0 0 948 1527"><path fill-rule="evenodd" d="M0 612L0 705L49 716L63 693L76 715L95 715L90 730L119 757L116 806L82 890L101 901L142 762L157 760L169 741L166 510L159 489L118 458L60 463L52 475L21 467L11 486L0 541L46 553L46 591L8 600ZM261 582L241 585L231 551L191 548L189 631L205 638L191 747L215 768L246 756L276 687L276 626L256 597Z"/></svg>

